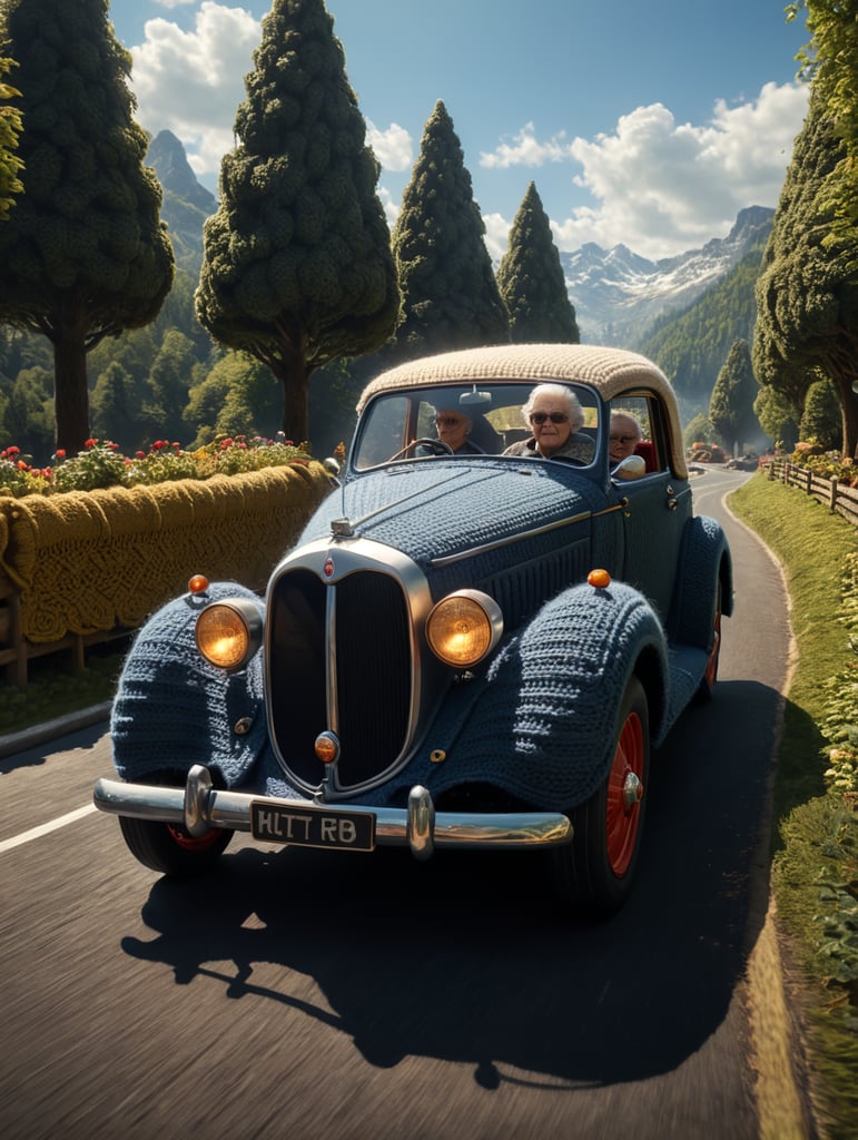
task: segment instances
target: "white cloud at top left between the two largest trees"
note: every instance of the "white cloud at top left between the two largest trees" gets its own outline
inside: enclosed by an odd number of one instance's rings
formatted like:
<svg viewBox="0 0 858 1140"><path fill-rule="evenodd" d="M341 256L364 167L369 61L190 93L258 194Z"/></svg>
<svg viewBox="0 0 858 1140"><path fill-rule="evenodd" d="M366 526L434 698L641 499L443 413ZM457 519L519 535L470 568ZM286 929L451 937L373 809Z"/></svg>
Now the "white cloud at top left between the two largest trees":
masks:
<svg viewBox="0 0 858 1140"><path fill-rule="evenodd" d="M160 2L177 7L182 0ZM146 22L145 34L131 48L137 117L153 133L172 131L197 177L216 181L221 156L234 146L232 123L262 26L243 8L203 0L193 31L156 18Z"/></svg>

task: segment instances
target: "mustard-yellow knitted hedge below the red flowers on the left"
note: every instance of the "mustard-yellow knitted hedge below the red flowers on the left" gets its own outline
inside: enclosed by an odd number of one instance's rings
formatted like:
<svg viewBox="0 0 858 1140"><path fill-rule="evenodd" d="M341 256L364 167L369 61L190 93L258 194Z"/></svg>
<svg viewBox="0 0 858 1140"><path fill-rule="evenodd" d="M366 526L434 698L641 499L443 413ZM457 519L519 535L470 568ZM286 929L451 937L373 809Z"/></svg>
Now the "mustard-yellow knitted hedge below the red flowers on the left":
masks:
<svg viewBox="0 0 858 1140"><path fill-rule="evenodd" d="M321 464L152 487L0 498L0 575L22 632L59 641L137 626L193 573L262 589L332 489Z"/></svg>

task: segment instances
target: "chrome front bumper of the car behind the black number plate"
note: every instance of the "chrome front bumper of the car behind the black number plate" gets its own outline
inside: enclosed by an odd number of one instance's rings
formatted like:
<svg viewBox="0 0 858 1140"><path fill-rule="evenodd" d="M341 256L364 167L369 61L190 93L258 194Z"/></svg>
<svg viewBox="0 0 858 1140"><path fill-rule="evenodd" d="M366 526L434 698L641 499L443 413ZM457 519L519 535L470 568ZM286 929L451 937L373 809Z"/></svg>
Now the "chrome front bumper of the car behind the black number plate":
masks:
<svg viewBox="0 0 858 1140"><path fill-rule="evenodd" d="M99 780L92 799L103 812L179 824L187 828L191 836L203 836L211 828L251 831L251 804L286 805L300 809L308 803L219 790L212 787L209 768L202 764L190 768L185 788ZM410 847L420 860L428 858L436 847L509 850L559 847L572 842L572 824L561 813L436 814L432 796L419 784L411 789L405 809L341 803L330 807L340 815L348 815L350 811L371 812L376 817L375 839L378 846Z"/></svg>

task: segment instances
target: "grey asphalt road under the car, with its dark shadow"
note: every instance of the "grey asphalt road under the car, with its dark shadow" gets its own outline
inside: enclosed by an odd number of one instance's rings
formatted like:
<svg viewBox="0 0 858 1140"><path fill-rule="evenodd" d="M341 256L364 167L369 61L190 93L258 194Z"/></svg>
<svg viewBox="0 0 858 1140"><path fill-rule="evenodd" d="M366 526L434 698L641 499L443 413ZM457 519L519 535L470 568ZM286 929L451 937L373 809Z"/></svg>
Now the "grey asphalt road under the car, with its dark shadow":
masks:
<svg viewBox="0 0 858 1140"><path fill-rule="evenodd" d="M0 760L3 1140L760 1135L746 970L790 630L721 503L744 478L695 484L736 611L714 700L653 758L640 882L608 922L558 914L533 855L247 838L172 883L89 806L104 726Z"/></svg>

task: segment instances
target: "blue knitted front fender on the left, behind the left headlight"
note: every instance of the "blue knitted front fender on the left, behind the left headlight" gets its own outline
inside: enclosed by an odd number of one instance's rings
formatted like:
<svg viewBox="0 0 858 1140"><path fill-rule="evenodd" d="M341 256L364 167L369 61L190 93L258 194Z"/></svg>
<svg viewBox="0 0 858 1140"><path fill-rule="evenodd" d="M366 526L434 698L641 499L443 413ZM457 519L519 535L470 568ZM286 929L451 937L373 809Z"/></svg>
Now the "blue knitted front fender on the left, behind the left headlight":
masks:
<svg viewBox="0 0 858 1140"><path fill-rule="evenodd" d="M252 598L263 610L245 587L216 583L205 597L167 602L134 638L111 717L113 762L123 780L205 764L234 788L263 751L262 653L227 674L209 665L194 641L199 610L228 597ZM235 732L239 719L248 726L242 734Z"/></svg>

